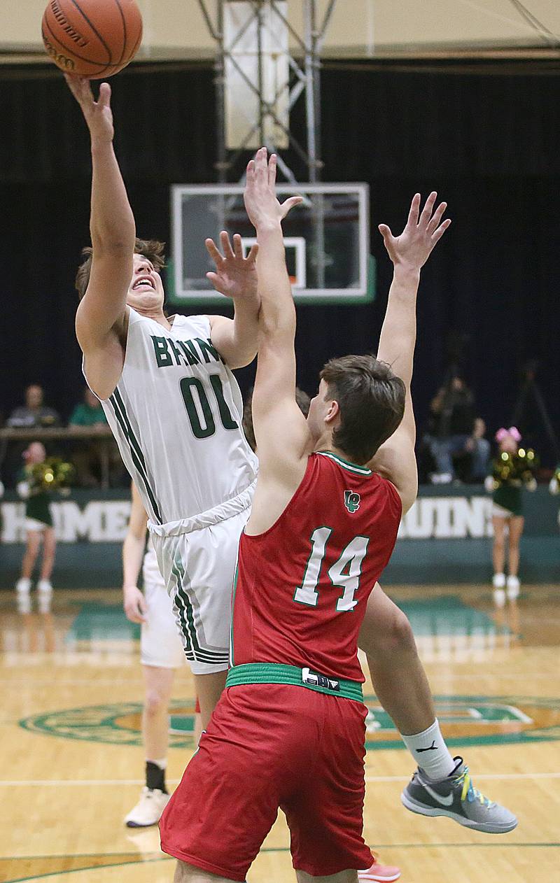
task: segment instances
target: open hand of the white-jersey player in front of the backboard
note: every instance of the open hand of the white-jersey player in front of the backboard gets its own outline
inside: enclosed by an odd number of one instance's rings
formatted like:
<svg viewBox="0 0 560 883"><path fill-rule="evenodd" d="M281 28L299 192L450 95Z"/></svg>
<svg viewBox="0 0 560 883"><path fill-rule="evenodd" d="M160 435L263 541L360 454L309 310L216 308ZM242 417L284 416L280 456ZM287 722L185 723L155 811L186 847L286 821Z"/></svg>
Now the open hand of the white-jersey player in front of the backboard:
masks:
<svg viewBox="0 0 560 883"><path fill-rule="evenodd" d="M257 298L257 253L258 245L252 245L251 251L246 258L243 257L243 246L238 233L233 237L231 247L230 237L225 230L220 233L222 252L220 252L214 239L206 240L208 254L216 264L216 273L207 273L206 277L216 291L224 294L226 298L236 300L243 298Z"/></svg>

